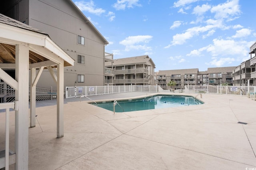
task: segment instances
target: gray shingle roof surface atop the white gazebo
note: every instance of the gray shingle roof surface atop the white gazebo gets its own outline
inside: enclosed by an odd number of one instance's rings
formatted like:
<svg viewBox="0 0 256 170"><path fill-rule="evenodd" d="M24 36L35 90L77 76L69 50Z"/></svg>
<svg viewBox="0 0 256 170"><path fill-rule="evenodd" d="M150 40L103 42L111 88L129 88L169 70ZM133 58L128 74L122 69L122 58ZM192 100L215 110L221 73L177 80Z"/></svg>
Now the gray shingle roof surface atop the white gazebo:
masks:
<svg viewBox="0 0 256 170"><path fill-rule="evenodd" d="M26 29L28 31L33 31L33 32L40 33L40 34L43 34L43 35L48 35L47 33L44 33L43 31L40 31L39 29L31 27L30 25L27 25L27 24L22 23L20 21L14 20L14 19L12 19L8 16L5 16L3 14L0 14L0 23L4 23L4 24L7 24L7 25L11 25L11 26L14 26L14 27L21 28L21 29ZM48 37L50 37L50 36L48 35Z"/></svg>

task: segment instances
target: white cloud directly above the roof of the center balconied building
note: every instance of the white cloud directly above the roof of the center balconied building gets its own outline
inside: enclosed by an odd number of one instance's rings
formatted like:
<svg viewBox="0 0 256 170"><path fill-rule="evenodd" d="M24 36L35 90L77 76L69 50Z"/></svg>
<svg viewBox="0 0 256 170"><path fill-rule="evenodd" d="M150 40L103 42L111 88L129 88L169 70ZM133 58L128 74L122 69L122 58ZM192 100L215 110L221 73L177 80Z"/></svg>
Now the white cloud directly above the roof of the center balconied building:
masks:
<svg viewBox="0 0 256 170"><path fill-rule="evenodd" d="M137 35L137 36L130 36L120 41L119 43L125 45L125 51L130 50L144 50L144 51L151 51L152 48L146 46L145 44L148 43L153 37L151 35Z"/></svg>

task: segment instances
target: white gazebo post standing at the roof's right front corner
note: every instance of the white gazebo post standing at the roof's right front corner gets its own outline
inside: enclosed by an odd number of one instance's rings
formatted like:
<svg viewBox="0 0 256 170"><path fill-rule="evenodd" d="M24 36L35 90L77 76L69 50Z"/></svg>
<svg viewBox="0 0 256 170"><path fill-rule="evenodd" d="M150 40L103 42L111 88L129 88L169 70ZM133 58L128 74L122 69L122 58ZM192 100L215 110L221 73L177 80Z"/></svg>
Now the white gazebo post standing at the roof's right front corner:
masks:
<svg viewBox="0 0 256 170"><path fill-rule="evenodd" d="M57 68L57 138L64 136L64 61Z"/></svg>

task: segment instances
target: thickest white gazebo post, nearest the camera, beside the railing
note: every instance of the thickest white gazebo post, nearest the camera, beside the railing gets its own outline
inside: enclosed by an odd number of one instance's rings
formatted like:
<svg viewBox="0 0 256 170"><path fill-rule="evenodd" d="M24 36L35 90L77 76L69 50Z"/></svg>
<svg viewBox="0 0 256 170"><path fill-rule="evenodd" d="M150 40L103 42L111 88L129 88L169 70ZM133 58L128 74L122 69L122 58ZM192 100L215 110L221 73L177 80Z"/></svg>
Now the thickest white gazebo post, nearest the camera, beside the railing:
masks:
<svg viewBox="0 0 256 170"><path fill-rule="evenodd" d="M18 90L15 100L18 110L15 111L15 153L16 170L28 169L28 85L29 85L29 49L28 45L16 45L15 79Z"/></svg>

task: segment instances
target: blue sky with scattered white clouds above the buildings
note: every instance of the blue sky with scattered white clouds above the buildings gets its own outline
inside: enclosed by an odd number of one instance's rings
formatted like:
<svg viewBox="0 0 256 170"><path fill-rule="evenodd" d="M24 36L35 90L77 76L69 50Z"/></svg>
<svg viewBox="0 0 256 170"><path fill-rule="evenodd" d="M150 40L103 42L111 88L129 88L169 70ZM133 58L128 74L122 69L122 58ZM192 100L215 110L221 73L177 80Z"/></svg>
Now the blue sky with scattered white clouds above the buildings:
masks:
<svg viewBox="0 0 256 170"><path fill-rule="evenodd" d="M155 71L238 66L256 41L256 0L73 0L114 59L148 55Z"/></svg>

